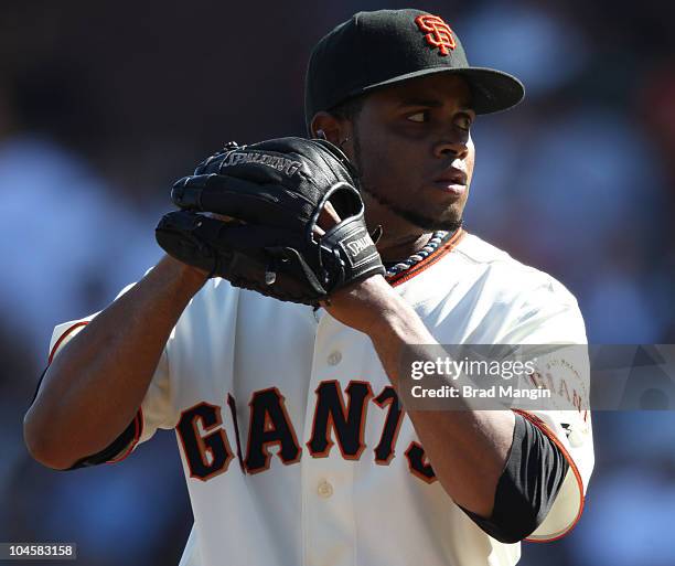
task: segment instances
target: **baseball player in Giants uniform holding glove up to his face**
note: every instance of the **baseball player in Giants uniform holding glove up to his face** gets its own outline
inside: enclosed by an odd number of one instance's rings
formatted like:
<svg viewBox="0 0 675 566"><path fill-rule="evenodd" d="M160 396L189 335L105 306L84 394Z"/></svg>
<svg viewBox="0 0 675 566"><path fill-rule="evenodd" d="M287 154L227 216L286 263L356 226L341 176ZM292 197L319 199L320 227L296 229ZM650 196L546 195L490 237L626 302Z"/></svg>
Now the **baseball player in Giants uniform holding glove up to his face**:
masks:
<svg viewBox="0 0 675 566"><path fill-rule="evenodd" d="M31 453L117 462L175 430L185 565L505 566L565 535L593 466L587 410L401 403L398 360L424 344L586 343L562 285L462 227L472 124L523 96L440 17L335 28L308 67L313 139L203 162L158 226L169 254L56 327Z"/></svg>

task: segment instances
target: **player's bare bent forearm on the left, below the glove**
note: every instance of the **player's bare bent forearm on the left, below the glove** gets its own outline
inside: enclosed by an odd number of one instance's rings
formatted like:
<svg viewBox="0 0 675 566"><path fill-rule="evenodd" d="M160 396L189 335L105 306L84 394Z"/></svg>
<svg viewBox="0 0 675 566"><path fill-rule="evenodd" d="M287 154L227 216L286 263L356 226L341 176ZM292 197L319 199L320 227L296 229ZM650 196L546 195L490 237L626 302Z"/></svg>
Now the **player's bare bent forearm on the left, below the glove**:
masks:
<svg viewBox="0 0 675 566"><path fill-rule="evenodd" d="M205 276L162 259L66 344L24 418L33 457L53 468L106 448L133 419L169 334Z"/></svg>

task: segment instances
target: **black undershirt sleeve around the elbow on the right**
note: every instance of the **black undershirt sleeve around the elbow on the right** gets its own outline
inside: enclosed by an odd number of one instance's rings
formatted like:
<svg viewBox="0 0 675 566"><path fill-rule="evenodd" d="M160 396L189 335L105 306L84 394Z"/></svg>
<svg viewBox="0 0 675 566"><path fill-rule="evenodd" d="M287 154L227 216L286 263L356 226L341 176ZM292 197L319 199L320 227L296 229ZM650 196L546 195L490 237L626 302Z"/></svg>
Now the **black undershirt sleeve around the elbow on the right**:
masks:
<svg viewBox="0 0 675 566"><path fill-rule="evenodd" d="M560 449L539 428L515 414L513 445L497 483L492 516L483 519L461 509L493 538L517 543L544 522L568 469Z"/></svg>

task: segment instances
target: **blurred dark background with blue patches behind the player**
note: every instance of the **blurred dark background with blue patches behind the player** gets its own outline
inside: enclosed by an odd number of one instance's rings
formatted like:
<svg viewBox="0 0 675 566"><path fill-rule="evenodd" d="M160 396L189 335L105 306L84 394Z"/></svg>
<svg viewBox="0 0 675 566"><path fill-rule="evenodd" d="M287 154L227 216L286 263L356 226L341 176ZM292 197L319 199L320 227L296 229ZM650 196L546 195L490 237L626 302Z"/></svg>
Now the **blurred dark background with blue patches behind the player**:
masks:
<svg viewBox="0 0 675 566"><path fill-rule="evenodd" d="M467 228L550 273L593 343L675 343L675 50L656 0L0 3L0 542L92 566L178 564L192 522L173 436L55 472L21 432L53 327L160 257L169 188L228 140L304 135L306 62L358 10L438 13L526 102L474 128ZM666 10L667 11L667 10ZM597 413L576 530L524 566L675 564L675 414Z"/></svg>

